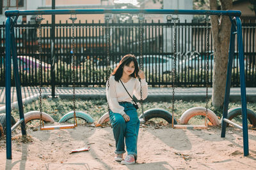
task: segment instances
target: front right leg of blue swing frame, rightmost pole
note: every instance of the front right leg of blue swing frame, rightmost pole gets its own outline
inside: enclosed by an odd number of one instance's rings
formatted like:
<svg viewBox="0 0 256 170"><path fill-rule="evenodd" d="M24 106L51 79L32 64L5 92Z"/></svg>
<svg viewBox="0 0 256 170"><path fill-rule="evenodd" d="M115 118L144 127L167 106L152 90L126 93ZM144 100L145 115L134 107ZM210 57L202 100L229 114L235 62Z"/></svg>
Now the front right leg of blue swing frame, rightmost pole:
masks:
<svg viewBox="0 0 256 170"><path fill-rule="evenodd" d="M242 24L239 17L236 17L237 24L237 42L240 66L240 85L241 85L241 100L242 100L242 118L243 118L243 143L244 143L244 156L249 155L248 146L248 124L247 124L247 106L246 106L246 85L244 77L244 47L242 36Z"/></svg>

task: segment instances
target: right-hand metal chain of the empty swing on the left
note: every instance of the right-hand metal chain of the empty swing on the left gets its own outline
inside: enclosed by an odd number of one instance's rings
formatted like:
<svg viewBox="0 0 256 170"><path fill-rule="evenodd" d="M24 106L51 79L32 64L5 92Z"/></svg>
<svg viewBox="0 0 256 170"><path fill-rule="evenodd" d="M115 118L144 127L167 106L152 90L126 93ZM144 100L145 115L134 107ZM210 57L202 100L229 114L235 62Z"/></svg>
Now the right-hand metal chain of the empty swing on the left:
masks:
<svg viewBox="0 0 256 170"><path fill-rule="evenodd" d="M77 120L76 120L76 88L75 88L75 82L76 82L76 73L75 73L75 64L76 64L76 55L75 55L75 31L74 31L74 22L76 20L76 18L72 18L70 17L70 20L72 20L72 66L73 66L73 71L72 71L72 80L73 80L73 97L72 97L72 101L73 101L73 111L74 111L74 125L77 126Z"/></svg>

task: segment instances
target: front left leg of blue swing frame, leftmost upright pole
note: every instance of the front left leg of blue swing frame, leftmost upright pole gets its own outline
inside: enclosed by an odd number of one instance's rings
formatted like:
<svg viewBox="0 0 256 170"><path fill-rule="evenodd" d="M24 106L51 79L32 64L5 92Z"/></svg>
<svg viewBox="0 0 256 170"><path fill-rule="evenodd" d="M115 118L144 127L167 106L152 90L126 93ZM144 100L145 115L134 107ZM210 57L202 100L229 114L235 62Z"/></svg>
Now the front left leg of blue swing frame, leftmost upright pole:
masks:
<svg viewBox="0 0 256 170"><path fill-rule="evenodd" d="M11 130L11 48L10 25L11 18L6 18L5 23L5 109L6 109L6 158L12 159L12 130Z"/></svg>

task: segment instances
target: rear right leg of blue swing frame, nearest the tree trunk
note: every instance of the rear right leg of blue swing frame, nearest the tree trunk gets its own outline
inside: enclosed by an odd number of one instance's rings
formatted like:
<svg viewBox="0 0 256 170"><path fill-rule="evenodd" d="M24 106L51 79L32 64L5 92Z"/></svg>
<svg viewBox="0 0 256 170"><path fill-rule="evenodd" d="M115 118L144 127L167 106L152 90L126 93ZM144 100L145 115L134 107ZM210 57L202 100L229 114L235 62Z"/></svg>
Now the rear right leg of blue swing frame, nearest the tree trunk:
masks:
<svg viewBox="0 0 256 170"><path fill-rule="evenodd" d="M235 51L236 27L234 25L234 21L231 18L230 18L230 21L232 23L232 26L231 26L229 52L228 52L228 70L227 70L227 80L226 80L225 98L224 98L224 106L223 106L223 119L221 122L221 138L225 138L225 134L226 134L227 123L223 120L224 120L224 118L227 118L227 114L228 114L228 103L229 103L230 85L231 85L231 73L232 73L232 64L233 64L234 51Z"/></svg>

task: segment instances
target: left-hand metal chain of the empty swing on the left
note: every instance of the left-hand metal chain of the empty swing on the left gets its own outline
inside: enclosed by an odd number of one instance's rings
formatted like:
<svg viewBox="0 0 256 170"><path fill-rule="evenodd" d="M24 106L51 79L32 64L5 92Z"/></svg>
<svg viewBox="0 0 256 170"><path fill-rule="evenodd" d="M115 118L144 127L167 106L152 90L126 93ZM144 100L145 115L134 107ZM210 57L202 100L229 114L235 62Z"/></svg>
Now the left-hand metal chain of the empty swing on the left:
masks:
<svg viewBox="0 0 256 170"><path fill-rule="evenodd" d="M39 38L38 38L38 48L39 48L39 107L40 107L40 128L44 127L44 121L42 116L42 45L41 45L41 39L42 39L42 25L41 22L44 20L44 18L36 17L36 21L38 22L38 29L39 29Z"/></svg>

